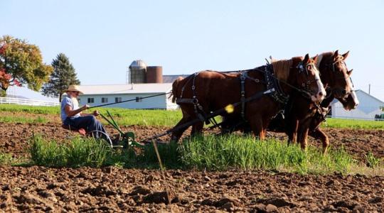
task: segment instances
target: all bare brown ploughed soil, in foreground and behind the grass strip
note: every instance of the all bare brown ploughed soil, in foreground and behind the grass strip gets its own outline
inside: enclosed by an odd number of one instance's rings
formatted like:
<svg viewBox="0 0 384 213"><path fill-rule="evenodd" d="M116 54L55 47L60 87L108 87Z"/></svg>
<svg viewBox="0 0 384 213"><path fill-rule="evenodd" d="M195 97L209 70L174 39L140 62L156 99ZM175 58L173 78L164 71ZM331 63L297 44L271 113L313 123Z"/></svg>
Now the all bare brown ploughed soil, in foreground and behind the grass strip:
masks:
<svg viewBox="0 0 384 213"><path fill-rule="evenodd" d="M33 133L57 141L76 134L58 122L0 125L0 152L16 156L25 155ZM141 140L167 128L123 130ZM358 160L369 151L384 157L384 131L326 133L332 146L344 146ZM0 167L0 174L0 212L384 212L384 177L41 167Z"/></svg>

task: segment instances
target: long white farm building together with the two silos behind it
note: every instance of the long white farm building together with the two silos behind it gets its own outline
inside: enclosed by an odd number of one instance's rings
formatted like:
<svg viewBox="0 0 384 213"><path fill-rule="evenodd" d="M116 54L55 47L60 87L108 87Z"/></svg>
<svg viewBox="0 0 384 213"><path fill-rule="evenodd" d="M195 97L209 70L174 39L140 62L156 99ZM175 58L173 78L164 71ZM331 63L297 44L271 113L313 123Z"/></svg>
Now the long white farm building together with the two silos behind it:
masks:
<svg viewBox="0 0 384 213"><path fill-rule="evenodd" d="M176 109L177 104L169 97L172 83L163 83L163 68L147 66L142 60L134 60L127 70L127 84L80 85L84 93L79 96L80 105L126 109ZM146 99L145 97L150 97ZM144 98L144 99L143 99ZM132 100L131 102L124 102ZM119 103L121 102L121 103Z"/></svg>

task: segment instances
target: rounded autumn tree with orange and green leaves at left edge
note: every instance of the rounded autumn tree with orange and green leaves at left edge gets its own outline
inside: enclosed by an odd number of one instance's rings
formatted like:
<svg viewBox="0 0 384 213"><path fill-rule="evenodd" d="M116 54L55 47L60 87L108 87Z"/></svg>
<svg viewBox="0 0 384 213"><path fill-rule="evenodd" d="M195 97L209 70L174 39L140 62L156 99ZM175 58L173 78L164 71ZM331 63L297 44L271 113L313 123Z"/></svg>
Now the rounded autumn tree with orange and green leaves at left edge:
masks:
<svg viewBox="0 0 384 213"><path fill-rule="evenodd" d="M11 35L0 38L0 84L3 92L9 86L23 84L38 91L52 71L50 65L43 63L38 46Z"/></svg>

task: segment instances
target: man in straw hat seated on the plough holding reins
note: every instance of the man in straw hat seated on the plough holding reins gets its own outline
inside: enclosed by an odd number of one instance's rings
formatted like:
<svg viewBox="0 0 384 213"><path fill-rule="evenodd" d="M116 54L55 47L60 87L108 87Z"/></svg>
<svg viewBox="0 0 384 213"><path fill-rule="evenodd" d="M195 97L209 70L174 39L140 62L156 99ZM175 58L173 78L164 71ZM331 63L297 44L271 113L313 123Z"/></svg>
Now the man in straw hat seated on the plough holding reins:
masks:
<svg viewBox="0 0 384 213"><path fill-rule="evenodd" d="M102 131L107 134L100 121L95 118L95 116L99 115L98 111L93 111L92 114L82 113L85 109L90 108L87 104L79 108L78 96L82 92L80 92L78 85L70 85L65 92L67 92L68 96L63 98L60 111L63 124L70 126L70 128L85 129L87 132ZM97 133L94 135L95 138L99 138Z"/></svg>

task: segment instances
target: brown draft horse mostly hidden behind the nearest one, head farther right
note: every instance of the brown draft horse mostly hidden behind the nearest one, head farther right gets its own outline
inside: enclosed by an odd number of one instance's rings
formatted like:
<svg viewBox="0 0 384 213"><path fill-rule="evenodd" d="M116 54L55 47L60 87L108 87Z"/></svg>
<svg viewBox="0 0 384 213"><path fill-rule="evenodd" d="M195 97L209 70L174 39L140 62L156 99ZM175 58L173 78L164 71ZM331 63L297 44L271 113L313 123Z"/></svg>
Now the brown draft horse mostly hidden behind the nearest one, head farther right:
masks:
<svg viewBox="0 0 384 213"><path fill-rule="evenodd" d="M286 132L289 142L296 142L298 138L302 148L306 148L309 134L322 141L323 153L326 153L329 138L319 126L325 120L329 105L334 98L338 99L346 110L355 109L358 105L358 99L351 82L352 70L347 70L344 61L348 57L348 53L339 55L336 50L335 53L329 52L319 55L316 66L319 68L321 81L329 94L329 97L326 97L319 107L301 95L293 93L284 109L284 115L275 116L268 126L268 130Z"/></svg>

